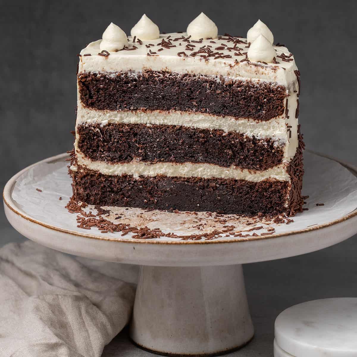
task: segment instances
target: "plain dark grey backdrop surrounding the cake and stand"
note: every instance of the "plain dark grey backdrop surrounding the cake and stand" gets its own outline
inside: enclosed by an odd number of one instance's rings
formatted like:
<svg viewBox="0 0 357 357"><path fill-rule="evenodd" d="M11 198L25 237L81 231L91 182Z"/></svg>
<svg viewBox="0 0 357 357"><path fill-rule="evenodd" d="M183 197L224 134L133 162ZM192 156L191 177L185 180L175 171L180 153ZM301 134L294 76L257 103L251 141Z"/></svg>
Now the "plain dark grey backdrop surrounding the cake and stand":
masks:
<svg viewBox="0 0 357 357"><path fill-rule="evenodd" d="M0 4L0 188L25 166L71 148L76 54L99 39L111 21L129 34L144 12L166 32L185 30L200 11L216 22L220 33L245 36L258 18L266 22L275 41L295 54L301 71L300 122L307 148L357 165L354 0ZM245 266L257 328L252 355L271 356L273 322L284 308L357 295L355 238L320 252ZM0 246L23 239L0 210Z"/></svg>

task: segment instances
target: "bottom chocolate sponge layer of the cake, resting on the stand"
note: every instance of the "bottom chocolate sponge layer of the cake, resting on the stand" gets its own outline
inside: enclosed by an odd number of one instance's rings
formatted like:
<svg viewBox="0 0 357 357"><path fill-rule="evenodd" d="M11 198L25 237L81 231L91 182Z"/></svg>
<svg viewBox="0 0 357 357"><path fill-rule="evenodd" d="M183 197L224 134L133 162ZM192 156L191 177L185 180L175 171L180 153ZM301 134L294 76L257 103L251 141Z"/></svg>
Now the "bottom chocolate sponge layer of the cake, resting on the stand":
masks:
<svg viewBox="0 0 357 357"><path fill-rule="evenodd" d="M211 211L245 215L282 213L287 181L110 176L78 167L70 171L75 200L100 206Z"/></svg>

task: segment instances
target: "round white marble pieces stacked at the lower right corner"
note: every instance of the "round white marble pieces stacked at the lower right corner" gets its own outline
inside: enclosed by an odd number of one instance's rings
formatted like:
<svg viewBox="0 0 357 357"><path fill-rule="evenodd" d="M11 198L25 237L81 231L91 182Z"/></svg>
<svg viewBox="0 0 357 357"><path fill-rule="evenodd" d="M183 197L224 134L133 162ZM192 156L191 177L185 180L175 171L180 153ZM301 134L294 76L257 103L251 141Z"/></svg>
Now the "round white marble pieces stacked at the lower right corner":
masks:
<svg viewBox="0 0 357 357"><path fill-rule="evenodd" d="M304 302L275 320L275 357L356 357L357 298Z"/></svg>

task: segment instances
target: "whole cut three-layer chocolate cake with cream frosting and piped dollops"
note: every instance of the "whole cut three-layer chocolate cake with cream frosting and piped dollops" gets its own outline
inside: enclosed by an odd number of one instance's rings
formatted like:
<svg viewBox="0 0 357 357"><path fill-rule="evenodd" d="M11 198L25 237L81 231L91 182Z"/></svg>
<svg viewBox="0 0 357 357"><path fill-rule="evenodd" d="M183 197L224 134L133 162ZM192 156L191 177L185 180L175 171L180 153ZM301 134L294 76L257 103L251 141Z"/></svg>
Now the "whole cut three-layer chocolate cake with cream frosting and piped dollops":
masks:
<svg viewBox="0 0 357 357"><path fill-rule="evenodd" d="M76 200L244 215L302 210L293 55L271 44L261 21L247 40L218 36L202 15L188 33L156 34L144 16L130 37L111 24L80 52L69 170Z"/></svg>

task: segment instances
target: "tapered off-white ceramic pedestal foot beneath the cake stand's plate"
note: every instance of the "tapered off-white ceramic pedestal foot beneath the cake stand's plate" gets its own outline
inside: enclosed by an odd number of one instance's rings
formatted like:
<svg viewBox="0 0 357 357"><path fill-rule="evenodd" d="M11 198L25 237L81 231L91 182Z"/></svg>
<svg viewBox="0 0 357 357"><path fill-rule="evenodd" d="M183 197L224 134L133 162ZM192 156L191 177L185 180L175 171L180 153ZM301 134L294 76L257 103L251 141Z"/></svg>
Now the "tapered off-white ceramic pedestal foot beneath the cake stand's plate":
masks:
<svg viewBox="0 0 357 357"><path fill-rule="evenodd" d="M142 266L130 337L160 355L220 355L253 337L242 265Z"/></svg>

